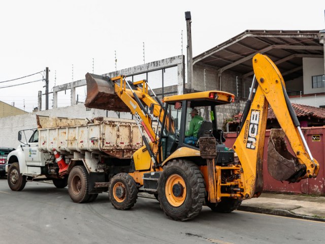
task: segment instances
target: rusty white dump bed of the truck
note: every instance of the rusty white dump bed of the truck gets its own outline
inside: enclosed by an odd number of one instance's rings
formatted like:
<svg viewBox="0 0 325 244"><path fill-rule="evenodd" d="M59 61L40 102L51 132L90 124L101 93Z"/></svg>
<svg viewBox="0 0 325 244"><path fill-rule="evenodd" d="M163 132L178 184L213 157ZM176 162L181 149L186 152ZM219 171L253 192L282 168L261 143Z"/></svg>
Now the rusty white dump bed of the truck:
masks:
<svg viewBox="0 0 325 244"><path fill-rule="evenodd" d="M91 151L115 158L131 159L142 146L142 137L132 119L98 117L69 119L38 116L39 149L62 154Z"/></svg>

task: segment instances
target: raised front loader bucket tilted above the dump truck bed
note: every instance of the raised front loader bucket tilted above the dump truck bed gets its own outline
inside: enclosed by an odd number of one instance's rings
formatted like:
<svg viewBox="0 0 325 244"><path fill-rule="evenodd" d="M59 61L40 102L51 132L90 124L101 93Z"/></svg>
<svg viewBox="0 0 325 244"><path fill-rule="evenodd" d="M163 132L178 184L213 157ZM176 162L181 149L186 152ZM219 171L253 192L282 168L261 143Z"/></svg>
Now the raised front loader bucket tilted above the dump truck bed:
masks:
<svg viewBox="0 0 325 244"><path fill-rule="evenodd" d="M86 74L87 98L85 106L87 108L98 108L114 110L119 112L129 112L129 108L115 94L115 84L108 76Z"/></svg>

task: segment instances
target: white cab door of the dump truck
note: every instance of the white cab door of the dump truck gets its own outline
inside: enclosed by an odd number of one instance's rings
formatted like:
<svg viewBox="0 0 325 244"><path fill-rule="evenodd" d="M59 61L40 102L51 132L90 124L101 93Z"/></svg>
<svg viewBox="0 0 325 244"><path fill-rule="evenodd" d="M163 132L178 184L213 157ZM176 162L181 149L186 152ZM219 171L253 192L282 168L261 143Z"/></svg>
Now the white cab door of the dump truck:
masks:
<svg viewBox="0 0 325 244"><path fill-rule="evenodd" d="M39 151L39 132L35 130L31 135L27 145L24 146L24 154L26 165L28 166L42 166Z"/></svg>

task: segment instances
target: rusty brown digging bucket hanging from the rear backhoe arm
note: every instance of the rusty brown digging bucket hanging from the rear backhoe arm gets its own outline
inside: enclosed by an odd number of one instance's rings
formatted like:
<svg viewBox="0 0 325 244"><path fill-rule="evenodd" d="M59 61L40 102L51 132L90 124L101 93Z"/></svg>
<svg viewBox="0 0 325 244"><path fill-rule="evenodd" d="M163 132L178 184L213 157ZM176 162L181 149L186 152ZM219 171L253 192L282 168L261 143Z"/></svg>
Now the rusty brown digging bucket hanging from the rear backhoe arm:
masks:
<svg viewBox="0 0 325 244"><path fill-rule="evenodd" d="M282 129L272 129L268 145L268 171L277 180L296 182L306 173L306 167L291 155Z"/></svg>

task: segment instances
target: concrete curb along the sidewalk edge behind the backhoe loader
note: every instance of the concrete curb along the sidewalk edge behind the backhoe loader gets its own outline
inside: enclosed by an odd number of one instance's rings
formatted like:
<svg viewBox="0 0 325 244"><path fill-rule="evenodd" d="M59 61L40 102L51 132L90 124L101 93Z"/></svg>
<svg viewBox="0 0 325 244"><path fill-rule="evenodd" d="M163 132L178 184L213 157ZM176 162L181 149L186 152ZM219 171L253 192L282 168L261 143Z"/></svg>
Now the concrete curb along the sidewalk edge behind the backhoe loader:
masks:
<svg viewBox="0 0 325 244"><path fill-rule="evenodd" d="M304 220L325 222L324 218L312 217L312 216L306 216L306 215L298 215L298 214L294 214L293 212L291 212L289 210L285 210L285 209L253 207L253 206L241 205L237 208L237 210L247 211L247 212L257 212L259 214L283 216L283 217L289 217L289 218L295 218L295 219L304 219Z"/></svg>

